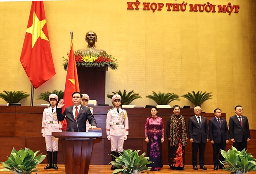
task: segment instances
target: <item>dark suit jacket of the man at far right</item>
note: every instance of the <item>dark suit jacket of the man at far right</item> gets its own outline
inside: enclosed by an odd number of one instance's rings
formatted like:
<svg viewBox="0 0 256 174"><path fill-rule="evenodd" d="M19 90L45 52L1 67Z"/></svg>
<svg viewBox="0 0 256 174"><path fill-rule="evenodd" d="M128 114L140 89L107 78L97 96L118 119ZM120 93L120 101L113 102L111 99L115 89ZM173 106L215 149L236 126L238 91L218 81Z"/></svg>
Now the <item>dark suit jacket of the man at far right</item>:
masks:
<svg viewBox="0 0 256 174"><path fill-rule="evenodd" d="M244 115L241 116L243 127L241 127L237 115L230 117L228 122L230 139L235 139L236 142L242 142L243 135L244 141L247 141L247 139L251 138L248 119Z"/></svg>

